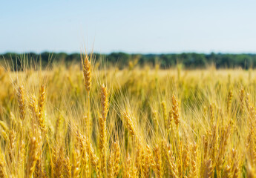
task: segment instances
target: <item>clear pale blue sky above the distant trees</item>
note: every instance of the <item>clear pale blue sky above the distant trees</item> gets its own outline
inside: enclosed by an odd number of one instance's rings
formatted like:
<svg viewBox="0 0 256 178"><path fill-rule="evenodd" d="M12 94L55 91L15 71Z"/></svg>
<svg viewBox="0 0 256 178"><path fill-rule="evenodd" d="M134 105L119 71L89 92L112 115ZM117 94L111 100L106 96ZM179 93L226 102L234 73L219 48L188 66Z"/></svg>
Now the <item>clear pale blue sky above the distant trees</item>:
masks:
<svg viewBox="0 0 256 178"><path fill-rule="evenodd" d="M1 0L0 53L256 53L255 0Z"/></svg>

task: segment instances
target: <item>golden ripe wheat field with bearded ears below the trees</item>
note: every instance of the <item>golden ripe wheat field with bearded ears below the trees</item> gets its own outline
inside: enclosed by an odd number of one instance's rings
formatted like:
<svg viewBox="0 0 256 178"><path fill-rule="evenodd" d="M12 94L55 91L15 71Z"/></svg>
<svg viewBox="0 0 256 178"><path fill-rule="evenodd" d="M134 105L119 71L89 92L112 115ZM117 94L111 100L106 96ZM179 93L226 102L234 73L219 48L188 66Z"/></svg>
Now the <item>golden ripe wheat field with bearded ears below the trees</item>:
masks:
<svg viewBox="0 0 256 178"><path fill-rule="evenodd" d="M255 177L255 70L83 56L0 81L0 177Z"/></svg>

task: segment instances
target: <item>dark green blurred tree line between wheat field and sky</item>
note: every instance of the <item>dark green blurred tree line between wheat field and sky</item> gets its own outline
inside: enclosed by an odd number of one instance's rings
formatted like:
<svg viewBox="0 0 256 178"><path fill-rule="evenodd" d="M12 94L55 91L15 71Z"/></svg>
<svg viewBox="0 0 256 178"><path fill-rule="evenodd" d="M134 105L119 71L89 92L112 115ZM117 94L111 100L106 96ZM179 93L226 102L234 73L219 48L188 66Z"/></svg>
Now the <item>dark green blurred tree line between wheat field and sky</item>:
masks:
<svg viewBox="0 0 256 178"><path fill-rule="evenodd" d="M128 65L149 65L161 68L175 67L182 65L187 69L206 68L215 65L217 68L242 67L244 69L256 67L256 54L241 53L163 53L163 54L129 54L129 53L93 53L96 62L105 62L108 66L114 65L123 68ZM3 60L4 59L4 60ZM27 59L28 62L41 62L42 67L49 63L64 62L70 65L73 62L81 62L80 53L4 53L0 55L0 62L12 62L16 67L21 64L20 59Z"/></svg>

